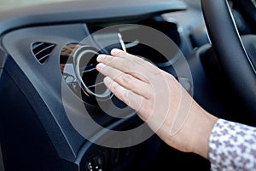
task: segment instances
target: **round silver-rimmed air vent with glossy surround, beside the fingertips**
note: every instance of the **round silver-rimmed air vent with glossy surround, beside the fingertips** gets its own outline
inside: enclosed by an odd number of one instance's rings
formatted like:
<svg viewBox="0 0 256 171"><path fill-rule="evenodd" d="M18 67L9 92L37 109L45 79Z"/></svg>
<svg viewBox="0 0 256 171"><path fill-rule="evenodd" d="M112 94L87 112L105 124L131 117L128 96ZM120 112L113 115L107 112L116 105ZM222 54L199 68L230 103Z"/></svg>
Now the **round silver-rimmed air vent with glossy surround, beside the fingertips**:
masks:
<svg viewBox="0 0 256 171"><path fill-rule="evenodd" d="M78 43L67 44L61 52L61 73L68 87L86 102L110 100L113 94L103 83L104 76L96 71L100 50ZM82 94L81 94L82 90Z"/></svg>

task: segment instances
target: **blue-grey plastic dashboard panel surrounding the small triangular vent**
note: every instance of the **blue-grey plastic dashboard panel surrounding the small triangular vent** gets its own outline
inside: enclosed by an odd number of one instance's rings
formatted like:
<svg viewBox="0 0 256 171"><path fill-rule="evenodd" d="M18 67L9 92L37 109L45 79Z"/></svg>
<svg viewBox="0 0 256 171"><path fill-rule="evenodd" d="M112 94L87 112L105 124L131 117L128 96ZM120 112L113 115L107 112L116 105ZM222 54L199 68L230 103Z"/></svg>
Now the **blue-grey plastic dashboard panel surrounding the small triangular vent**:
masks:
<svg viewBox="0 0 256 171"><path fill-rule="evenodd" d="M85 36L84 25L78 24L20 29L3 37L3 46L13 59L5 64L5 70L33 106L58 155L68 161L75 160L84 139L67 120L61 103L59 56L66 43L79 42ZM56 44L44 65L38 63L30 48L38 41Z"/></svg>

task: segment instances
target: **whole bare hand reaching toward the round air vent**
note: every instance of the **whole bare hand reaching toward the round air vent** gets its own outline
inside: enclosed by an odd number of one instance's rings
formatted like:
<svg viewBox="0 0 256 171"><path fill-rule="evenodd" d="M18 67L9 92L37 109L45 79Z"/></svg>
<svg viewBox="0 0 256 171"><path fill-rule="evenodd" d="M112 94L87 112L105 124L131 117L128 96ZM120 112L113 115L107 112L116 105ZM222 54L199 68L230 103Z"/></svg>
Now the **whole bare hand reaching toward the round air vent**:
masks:
<svg viewBox="0 0 256 171"><path fill-rule="evenodd" d="M197 105L171 74L119 49L111 54L99 55L96 69L107 76L104 83L113 94L136 110L166 144L207 157L217 118Z"/></svg>

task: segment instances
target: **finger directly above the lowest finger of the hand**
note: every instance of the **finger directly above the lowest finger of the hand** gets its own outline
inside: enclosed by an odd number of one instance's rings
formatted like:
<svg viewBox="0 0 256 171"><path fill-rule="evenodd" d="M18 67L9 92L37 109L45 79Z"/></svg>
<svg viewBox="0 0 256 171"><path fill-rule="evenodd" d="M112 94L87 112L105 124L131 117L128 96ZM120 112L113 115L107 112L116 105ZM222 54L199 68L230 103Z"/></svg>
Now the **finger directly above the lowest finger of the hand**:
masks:
<svg viewBox="0 0 256 171"><path fill-rule="evenodd" d="M96 69L103 75L111 77L111 79L113 79L116 83L119 83L119 85L123 86L124 88L127 88L138 95L142 95L146 99L150 97L152 92L150 84L102 63L97 65Z"/></svg>

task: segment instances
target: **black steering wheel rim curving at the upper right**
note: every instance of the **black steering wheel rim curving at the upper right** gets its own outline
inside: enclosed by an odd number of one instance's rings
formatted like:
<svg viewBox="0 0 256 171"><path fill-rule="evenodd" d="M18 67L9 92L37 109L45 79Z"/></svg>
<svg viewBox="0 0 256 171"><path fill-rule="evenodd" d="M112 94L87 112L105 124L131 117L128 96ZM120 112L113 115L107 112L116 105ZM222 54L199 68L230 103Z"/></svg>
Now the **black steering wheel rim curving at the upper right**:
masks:
<svg viewBox="0 0 256 171"><path fill-rule="evenodd" d="M256 121L256 65L253 66L253 56L247 54L241 42L229 3L227 0L201 0L201 8L218 62Z"/></svg>

